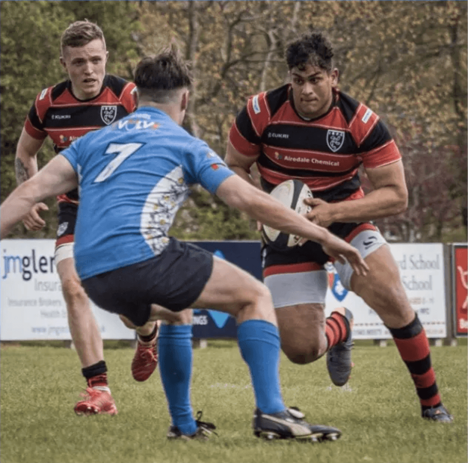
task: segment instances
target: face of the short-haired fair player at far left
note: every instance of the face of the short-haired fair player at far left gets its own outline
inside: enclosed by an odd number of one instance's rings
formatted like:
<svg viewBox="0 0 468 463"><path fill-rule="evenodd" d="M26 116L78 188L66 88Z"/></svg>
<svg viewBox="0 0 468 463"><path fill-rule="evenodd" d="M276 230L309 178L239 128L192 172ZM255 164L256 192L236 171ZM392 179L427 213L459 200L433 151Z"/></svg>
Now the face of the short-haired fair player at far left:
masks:
<svg viewBox="0 0 468 463"><path fill-rule="evenodd" d="M104 42L99 38L83 47L65 47L60 62L68 72L73 95L78 100L99 95L106 75L107 55Z"/></svg>

